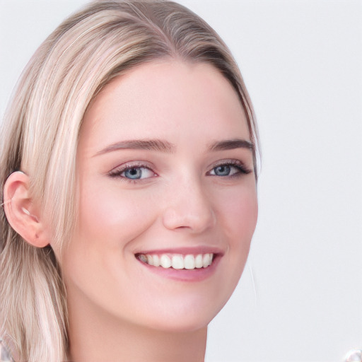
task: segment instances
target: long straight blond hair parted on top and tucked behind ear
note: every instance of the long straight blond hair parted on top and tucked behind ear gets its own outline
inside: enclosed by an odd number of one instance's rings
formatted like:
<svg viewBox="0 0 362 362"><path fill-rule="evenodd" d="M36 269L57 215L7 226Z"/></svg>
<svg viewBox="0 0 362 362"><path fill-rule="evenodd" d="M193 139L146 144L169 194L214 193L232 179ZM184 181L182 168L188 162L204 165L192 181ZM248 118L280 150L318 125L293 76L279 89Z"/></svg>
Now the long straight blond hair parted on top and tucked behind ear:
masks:
<svg viewBox="0 0 362 362"><path fill-rule="evenodd" d="M66 243L76 222L76 148L88 105L113 78L167 57L213 64L230 81L247 115L255 158L257 127L243 78L209 25L171 1L94 1L37 49L1 133L1 192L13 171L28 174L31 197L53 227L52 243ZM26 243L0 212L1 333L21 361L64 361L66 290L59 261L51 247Z"/></svg>

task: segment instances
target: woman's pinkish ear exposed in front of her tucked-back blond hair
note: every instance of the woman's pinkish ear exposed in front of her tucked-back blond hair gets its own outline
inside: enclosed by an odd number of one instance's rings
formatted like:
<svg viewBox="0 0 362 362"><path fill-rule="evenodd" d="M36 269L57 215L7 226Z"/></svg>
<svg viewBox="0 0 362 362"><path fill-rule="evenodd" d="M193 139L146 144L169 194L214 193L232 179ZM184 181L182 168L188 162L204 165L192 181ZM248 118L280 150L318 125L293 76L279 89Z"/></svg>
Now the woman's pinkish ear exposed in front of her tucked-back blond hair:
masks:
<svg viewBox="0 0 362 362"><path fill-rule="evenodd" d="M40 210L29 194L30 180L21 171L12 173L4 185L4 211L8 223L29 244L49 245L49 234L40 218Z"/></svg>

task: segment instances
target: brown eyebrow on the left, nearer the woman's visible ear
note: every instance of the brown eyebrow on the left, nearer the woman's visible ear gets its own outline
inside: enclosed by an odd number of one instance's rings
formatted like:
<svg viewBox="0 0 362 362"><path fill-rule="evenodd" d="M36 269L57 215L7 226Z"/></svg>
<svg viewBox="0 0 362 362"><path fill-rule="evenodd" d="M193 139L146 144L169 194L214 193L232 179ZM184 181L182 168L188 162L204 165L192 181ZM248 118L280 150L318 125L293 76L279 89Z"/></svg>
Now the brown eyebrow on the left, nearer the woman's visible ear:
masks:
<svg viewBox="0 0 362 362"><path fill-rule="evenodd" d="M168 141L163 141L160 139L131 139L127 141L119 141L115 144L111 144L103 148L102 150L95 153L95 156L102 155L103 153L108 153L118 150L148 150L148 151L159 151L165 153L175 152L175 145L171 144Z"/></svg>

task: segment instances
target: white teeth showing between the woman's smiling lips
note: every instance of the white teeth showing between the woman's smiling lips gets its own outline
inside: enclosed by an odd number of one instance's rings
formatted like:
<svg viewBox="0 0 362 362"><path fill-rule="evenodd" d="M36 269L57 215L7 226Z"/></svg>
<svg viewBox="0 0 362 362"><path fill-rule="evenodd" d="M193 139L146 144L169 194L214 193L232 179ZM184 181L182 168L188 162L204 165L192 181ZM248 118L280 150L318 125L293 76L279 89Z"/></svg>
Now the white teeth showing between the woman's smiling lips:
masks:
<svg viewBox="0 0 362 362"><path fill-rule="evenodd" d="M193 270L209 267L214 260L214 254L137 254L136 258L153 267Z"/></svg>

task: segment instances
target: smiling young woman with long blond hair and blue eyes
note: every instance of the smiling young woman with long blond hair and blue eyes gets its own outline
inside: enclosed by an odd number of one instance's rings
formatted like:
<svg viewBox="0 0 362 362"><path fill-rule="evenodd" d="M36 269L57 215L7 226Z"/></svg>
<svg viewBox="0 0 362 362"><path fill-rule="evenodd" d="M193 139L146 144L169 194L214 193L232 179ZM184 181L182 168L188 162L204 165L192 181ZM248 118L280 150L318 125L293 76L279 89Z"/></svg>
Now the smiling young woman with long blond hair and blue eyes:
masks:
<svg viewBox="0 0 362 362"><path fill-rule="evenodd" d="M1 141L15 361L204 361L257 221L257 128L226 45L169 1L95 1L37 50Z"/></svg>

